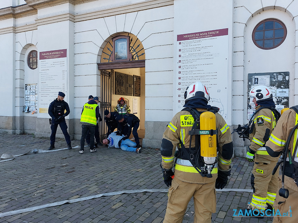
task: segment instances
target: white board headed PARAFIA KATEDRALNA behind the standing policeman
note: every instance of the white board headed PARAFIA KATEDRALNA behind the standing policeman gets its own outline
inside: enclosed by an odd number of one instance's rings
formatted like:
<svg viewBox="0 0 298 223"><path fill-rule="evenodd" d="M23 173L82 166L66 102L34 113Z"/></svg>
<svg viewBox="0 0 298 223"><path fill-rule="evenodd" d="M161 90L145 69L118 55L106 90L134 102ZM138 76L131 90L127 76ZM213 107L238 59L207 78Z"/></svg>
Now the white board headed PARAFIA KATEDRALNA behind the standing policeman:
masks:
<svg viewBox="0 0 298 223"><path fill-rule="evenodd" d="M66 49L39 52L39 80L39 113L48 113L59 91L67 95Z"/></svg>

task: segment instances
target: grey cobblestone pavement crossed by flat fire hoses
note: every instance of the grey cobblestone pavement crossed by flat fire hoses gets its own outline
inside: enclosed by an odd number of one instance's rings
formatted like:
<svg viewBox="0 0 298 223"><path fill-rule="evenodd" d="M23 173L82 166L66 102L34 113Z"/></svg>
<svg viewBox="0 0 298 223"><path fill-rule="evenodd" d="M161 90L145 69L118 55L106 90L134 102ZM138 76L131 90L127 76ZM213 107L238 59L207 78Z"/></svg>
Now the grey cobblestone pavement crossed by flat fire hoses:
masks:
<svg viewBox="0 0 298 223"><path fill-rule="evenodd" d="M0 134L0 155L18 155L30 149L46 150L49 145L49 139L33 135ZM72 146L76 145L79 141L72 141ZM56 141L55 147L67 145L65 141ZM29 154L1 162L0 212L114 191L167 189L159 167L158 149L144 149L141 154L105 146L95 153L90 153L89 148L83 154L78 151L76 148ZM232 165L227 188L252 189L252 163L235 158ZM212 222L272 222L272 217L233 217L233 209L246 208L251 198L252 193L247 192L218 192L217 211L212 214ZM6 216L0 218L0 222L159 223L163 221L166 205L167 193L120 194ZM191 200L183 223L193 222L193 218Z"/></svg>

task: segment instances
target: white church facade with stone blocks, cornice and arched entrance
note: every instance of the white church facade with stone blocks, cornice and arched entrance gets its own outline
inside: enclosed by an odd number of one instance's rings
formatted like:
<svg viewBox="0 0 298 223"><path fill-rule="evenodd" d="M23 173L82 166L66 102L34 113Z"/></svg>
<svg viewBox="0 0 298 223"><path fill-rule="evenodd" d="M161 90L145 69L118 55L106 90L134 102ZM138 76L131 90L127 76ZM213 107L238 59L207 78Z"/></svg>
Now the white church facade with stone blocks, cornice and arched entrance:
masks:
<svg viewBox="0 0 298 223"><path fill-rule="evenodd" d="M278 109L298 104L297 32L298 0L2 0L0 133L49 137L63 91L72 139L89 95L102 117L124 97L143 146L159 148L195 81L232 131L248 123L254 85L270 86ZM233 141L241 156L248 140Z"/></svg>

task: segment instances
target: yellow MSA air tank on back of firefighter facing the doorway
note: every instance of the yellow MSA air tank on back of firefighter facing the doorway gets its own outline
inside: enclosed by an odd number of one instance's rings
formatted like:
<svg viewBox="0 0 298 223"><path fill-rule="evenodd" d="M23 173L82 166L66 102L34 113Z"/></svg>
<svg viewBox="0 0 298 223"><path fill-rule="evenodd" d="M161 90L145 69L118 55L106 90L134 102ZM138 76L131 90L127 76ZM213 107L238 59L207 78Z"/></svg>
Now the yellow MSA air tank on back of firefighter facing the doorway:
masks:
<svg viewBox="0 0 298 223"><path fill-rule="evenodd" d="M201 156L205 164L215 163L217 156L216 134L211 136L210 130L216 130L216 119L213 112L203 112L200 115Z"/></svg>

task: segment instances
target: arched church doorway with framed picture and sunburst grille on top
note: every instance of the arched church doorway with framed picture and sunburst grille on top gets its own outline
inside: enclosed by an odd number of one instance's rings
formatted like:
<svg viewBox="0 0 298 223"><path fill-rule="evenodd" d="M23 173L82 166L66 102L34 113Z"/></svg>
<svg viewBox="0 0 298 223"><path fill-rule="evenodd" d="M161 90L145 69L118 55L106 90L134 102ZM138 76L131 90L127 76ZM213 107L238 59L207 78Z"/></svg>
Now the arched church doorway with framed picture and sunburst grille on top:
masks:
<svg viewBox="0 0 298 223"><path fill-rule="evenodd" d="M140 119L138 134L142 142L145 136L145 50L141 41L131 33L111 35L105 43L98 63L102 101L100 113L104 119L105 109L114 111L119 98L123 97L131 109L130 113ZM100 129L101 139L106 138L104 121Z"/></svg>

